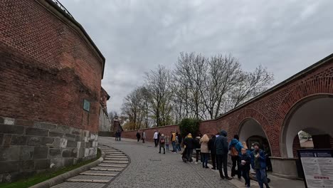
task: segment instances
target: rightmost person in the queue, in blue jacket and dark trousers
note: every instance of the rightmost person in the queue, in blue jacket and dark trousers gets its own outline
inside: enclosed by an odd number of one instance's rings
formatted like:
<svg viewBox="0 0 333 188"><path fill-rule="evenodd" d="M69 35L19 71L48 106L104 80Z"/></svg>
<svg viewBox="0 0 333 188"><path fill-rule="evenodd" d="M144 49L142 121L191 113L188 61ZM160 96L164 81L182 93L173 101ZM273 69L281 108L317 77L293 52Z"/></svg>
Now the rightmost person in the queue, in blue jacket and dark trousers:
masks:
<svg viewBox="0 0 333 188"><path fill-rule="evenodd" d="M260 188L263 188L263 184L265 184L266 188L269 188L268 179L266 176L266 158L263 150L260 150L260 145L258 142L253 144L254 150L251 152L251 163L253 169L255 169L255 177L257 177L257 181Z"/></svg>

